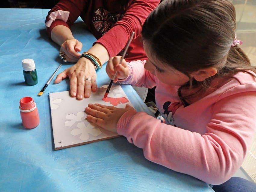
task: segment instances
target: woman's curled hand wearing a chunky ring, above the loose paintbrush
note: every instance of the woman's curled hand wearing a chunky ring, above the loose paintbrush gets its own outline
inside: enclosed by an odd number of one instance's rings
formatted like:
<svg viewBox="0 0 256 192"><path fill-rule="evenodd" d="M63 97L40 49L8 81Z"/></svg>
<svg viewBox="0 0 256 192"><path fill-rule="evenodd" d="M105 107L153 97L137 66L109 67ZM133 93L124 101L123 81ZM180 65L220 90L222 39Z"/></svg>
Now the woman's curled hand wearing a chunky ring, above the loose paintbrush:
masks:
<svg viewBox="0 0 256 192"><path fill-rule="evenodd" d="M77 53L82 50L83 44L76 39L68 39L61 44L60 52L65 53L65 58L68 62L77 62L80 53Z"/></svg>

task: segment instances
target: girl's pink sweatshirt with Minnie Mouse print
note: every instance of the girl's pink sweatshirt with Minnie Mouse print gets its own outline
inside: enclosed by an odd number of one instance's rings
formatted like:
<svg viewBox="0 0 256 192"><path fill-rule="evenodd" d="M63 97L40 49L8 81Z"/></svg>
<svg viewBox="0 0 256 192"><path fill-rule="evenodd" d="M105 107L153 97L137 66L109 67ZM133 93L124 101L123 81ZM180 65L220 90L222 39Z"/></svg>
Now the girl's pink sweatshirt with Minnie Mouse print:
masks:
<svg viewBox="0 0 256 192"><path fill-rule="evenodd" d="M242 165L256 130L255 78L237 73L215 91L183 107L178 87L160 82L144 69L145 62L130 62L130 74L121 83L156 86L156 104L165 123L129 110L118 121L118 134L142 148L152 162L208 184L227 181ZM220 82L215 80L216 85Z"/></svg>

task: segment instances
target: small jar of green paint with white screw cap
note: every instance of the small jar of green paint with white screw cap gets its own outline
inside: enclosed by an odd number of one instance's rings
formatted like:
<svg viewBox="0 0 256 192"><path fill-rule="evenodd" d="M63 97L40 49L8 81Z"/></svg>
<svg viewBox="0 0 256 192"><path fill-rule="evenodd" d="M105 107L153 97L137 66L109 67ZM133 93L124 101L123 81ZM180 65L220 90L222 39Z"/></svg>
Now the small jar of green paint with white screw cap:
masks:
<svg viewBox="0 0 256 192"><path fill-rule="evenodd" d="M28 85L36 85L38 83L38 77L36 73L36 65L33 59L22 60L23 75L25 82Z"/></svg>

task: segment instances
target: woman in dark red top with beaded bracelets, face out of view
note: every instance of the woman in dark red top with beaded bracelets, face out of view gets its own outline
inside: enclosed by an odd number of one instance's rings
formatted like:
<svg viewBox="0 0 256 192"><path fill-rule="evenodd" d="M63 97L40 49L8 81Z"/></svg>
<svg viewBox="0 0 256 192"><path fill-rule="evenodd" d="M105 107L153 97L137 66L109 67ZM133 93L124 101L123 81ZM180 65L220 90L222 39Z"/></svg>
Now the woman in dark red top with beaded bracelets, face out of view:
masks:
<svg viewBox="0 0 256 192"><path fill-rule="evenodd" d="M141 28L148 14L159 2L160 0L60 0L49 11L45 25L49 37L61 46L61 58L76 64L60 73L55 83L69 77L71 96L79 100L90 97L91 91L97 90L95 68L100 68L97 67L97 60L101 65L110 57L122 54L133 31L135 36L127 51L126 61L146 60L140 40ZM83 45L73 37L70 30L79 16L98 39L83 57L78 53L82 51Z"/></svg>

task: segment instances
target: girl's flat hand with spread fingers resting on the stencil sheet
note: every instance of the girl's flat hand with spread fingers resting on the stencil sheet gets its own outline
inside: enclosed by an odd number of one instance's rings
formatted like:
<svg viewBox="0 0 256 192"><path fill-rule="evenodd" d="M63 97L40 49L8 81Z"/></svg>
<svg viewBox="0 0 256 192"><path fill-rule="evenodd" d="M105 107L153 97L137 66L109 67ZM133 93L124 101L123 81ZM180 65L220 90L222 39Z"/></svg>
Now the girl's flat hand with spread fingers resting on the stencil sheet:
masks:
<svg viewBox="0 0 256 192"><path fill-rule="evenodd" d="M89 122L115 133L117 132L117 122L128 110L134 110L134 108L129 104L124 109L101 104L88 104L88 107L85 108L86 113L88 113L86 119Z"/></svg>

